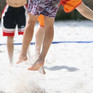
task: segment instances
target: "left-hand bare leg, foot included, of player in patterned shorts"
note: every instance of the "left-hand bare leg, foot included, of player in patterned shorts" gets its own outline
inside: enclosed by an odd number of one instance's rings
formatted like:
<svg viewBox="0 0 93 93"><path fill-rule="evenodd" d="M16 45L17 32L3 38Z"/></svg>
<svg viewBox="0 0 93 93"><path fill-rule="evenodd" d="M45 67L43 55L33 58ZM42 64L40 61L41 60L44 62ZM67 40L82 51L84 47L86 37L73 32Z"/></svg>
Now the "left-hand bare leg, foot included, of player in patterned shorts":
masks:
<svg viewBox="0 0 93 93"><path fill-rule="evenodd" d="M23 35L22 49L17 64L27 60L27 49L33 37L34 25L37 21L37 17L38 16L34 16L30 13L28 14L26 29Z"/></svg>

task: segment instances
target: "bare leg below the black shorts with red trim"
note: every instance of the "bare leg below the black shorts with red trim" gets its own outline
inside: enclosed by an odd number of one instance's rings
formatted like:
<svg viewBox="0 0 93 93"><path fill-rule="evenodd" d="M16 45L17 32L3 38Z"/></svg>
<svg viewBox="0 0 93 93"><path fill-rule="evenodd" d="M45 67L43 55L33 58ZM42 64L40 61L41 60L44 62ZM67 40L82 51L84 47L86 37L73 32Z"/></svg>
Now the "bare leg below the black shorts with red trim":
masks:
<svg viewBox="0 0 93 93"><path fill-rule="evenodd" d="M13 61L13 51L14 51L13 38L14 38L13 36L7 36L7 51L10 64L12 64Z"/></svg>

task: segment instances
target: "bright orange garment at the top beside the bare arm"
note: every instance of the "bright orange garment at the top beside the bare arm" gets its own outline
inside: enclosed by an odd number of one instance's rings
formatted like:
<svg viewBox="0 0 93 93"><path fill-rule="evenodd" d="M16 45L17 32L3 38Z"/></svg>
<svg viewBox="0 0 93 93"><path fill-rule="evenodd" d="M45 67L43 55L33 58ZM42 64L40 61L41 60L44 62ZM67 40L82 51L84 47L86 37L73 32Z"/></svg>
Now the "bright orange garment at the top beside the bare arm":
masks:
<svg viewBox="0 0 93 93"><path fill-rule="evenodd" d="M66 13L69 13L73 11L81 3L82 0L61 0L59 5L63 5L64 11Z"/></svg>

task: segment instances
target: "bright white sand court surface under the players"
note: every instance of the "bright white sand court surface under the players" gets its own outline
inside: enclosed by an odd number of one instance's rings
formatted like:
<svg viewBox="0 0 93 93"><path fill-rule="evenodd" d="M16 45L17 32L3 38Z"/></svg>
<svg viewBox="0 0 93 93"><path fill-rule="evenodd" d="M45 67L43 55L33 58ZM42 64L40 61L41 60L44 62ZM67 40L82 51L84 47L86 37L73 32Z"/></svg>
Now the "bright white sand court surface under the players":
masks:
<svg viewBox="0 0 93 93"><path fill-rule="evenodd" d="M37 27L38 24L35 31ZM29 60L19 65L15 63L21 45L15 45L13 66L9 66L6 45L0 45L0 93L93 93L93 43L87 43L93 41L93 22L60 21L54 28L53 41L74 43L51 45L44 65L46 75L27 70L35 60L35 45L29 47ZM16 33L14 42L22 42L22 36ZM0 27L0 44L3 43L6 37Z"/></svg>

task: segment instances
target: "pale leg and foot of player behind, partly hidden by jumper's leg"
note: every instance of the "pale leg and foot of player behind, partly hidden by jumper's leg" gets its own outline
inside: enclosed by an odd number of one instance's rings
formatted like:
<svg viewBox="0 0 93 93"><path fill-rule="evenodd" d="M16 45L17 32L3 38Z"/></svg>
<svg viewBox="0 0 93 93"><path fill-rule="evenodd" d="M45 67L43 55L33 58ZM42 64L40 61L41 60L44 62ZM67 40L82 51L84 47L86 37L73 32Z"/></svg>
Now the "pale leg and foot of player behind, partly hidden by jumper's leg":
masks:
<svg viewBox="0 0 93 93"><path fill-rule="evenodd" d="M36 31L36 58L40 55L41 45L44 39L44 27L39 26L38 30ZM44 67L40 67L39 72L42 74L46 74Z"/></svg>

